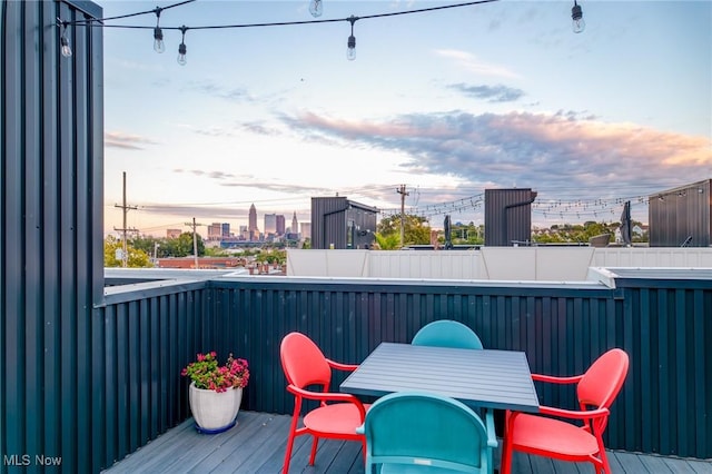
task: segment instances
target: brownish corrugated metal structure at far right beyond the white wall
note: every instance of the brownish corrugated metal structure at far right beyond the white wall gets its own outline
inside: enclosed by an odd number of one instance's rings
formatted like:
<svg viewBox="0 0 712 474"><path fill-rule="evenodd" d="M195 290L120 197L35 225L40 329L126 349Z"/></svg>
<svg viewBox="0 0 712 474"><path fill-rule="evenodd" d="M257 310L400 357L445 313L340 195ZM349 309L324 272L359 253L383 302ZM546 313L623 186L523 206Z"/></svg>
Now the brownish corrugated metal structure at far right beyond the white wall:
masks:
<svg viewBox="0 0 712 474"><path fill-rule="evenodd" d="M712 245L712 180L708 179L650 196L651 247Z"/></svg>

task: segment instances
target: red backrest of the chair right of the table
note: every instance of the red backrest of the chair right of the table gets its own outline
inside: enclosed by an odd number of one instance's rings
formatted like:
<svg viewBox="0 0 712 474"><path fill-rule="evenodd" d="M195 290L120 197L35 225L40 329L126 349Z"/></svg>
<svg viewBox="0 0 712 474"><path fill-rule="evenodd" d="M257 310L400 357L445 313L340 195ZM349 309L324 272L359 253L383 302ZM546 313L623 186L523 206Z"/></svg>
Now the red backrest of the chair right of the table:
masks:
<svg viewBox="0 0 712 474"><path fill-rule="evenodd" d="M595 359L576 386L578 402L599 408L607 408L617 396L627 375L627 354L611 349Z"/></svg>

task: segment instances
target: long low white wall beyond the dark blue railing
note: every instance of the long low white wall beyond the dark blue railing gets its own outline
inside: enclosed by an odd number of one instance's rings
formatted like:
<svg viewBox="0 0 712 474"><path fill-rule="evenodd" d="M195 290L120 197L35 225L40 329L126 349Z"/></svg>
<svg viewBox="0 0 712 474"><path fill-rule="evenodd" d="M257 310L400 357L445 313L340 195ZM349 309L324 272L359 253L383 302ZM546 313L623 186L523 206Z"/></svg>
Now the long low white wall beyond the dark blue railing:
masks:
<svg viewBox="0 0 712 474"><path fill-rule="evenodd" d="M712 248L287 250L289 276L585 282L590 267L712 268Z"/></svg>

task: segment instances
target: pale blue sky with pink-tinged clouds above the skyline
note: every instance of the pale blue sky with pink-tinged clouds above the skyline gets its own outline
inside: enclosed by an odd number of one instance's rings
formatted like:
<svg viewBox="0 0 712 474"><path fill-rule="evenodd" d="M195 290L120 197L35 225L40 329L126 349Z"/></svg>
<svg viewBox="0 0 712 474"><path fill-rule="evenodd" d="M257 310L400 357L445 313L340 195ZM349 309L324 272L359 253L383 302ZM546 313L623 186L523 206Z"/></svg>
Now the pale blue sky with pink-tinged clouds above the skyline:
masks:
<svg viewBox="0 0 712 474"><path fill-rule="evenodd" d="M237 233L253 204L259 227L305 223L336 195L387 217L402 185L434 228L484 224L502 188L537 192L535 226L616 221L626 200L647 223L651 195L712 179L711 1L581 0L581 33L573 0L97 3L149 11L103 28L107 233L123 172L128 227L156 236Z"/></svg>

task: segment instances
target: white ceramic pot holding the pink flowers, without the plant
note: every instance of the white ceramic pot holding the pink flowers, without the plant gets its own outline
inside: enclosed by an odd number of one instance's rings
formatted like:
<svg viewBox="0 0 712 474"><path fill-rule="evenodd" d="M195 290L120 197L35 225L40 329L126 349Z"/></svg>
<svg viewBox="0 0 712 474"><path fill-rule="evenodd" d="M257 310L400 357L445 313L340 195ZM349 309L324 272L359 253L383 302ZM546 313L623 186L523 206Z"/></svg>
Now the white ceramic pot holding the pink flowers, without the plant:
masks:
<svg viewBox="0 0 712 474"><path fill-rule="evenodd" d="M237 419L243 401L241 388L229 388L226 392L206 391L190 384L190 412L200 433L222 433Z"/></svg>

